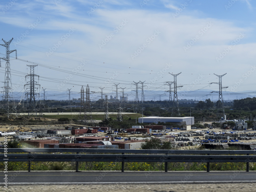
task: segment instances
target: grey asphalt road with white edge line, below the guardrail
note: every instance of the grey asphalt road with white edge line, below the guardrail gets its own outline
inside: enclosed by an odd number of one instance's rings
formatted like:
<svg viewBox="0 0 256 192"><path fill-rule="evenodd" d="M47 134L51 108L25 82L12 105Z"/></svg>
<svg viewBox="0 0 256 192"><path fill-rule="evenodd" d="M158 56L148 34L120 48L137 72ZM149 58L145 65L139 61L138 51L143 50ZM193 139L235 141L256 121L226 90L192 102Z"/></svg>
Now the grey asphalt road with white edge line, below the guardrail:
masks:
<svg viewBox="0 0 256 192"><path fill-rule="evenodd" d="M4 185L4 174L0 176ZM256 172L8 172L8 185L256 182Z"/></svg>

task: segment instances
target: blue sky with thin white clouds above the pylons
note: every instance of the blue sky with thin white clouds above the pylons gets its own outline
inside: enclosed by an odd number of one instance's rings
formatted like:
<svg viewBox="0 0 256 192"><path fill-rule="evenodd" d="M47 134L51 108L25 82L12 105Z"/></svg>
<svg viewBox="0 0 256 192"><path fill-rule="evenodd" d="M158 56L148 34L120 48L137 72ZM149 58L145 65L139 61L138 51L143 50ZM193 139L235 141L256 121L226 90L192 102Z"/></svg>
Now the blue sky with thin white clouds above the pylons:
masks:
<svg viewBox="0 0 256 192"><path fill-rule="evenodd" d="M120 83L134 98L132 83L145 81L150 99L152 90L169 89L169 73L180 72L178 90L187 95L218 91L210 84L218 82L214 73L227 73L226 91L254 91L255 8L252 0L4 0L0 39L14 38L10 50L17 49L18 60L10 61L13 91L24 91L31 63L38 65L40 89L52 91L79 92L89 84L110 95ZM4 60L1 65L2 82Z"/></svg>

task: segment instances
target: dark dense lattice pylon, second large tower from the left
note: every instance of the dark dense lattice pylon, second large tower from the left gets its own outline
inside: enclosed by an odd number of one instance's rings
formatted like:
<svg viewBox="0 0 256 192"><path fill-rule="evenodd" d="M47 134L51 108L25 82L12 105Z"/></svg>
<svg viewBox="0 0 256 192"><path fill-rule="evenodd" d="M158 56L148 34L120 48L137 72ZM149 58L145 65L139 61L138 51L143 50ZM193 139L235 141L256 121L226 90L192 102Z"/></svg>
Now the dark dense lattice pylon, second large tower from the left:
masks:
<svg viewBox="0 0 256 192"><path fill-rule="evenodd" d="M30 67L30 74L26 75L25 77L26 78L30 77L30 81L28 81L27 84L24 85L24 87L28 86L27 89L29 89L29 91L26 93L27 96L29 95L28 115L37 116L38 109L37 109L35 95L39 96L39 93L35 92L35 89L38 89L38 88L35 88L35 86L39 86L39 89L40 89L40 85L37 84L37 82L35 81L35 77L38 77L38 80L39 80L39 76L34 73L34 68L37 65L27 65L27 66ZM39 116L41 115L42 115L41 110L39 109Z"/></svg>

